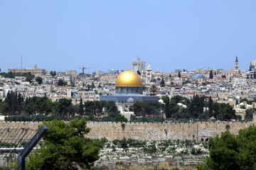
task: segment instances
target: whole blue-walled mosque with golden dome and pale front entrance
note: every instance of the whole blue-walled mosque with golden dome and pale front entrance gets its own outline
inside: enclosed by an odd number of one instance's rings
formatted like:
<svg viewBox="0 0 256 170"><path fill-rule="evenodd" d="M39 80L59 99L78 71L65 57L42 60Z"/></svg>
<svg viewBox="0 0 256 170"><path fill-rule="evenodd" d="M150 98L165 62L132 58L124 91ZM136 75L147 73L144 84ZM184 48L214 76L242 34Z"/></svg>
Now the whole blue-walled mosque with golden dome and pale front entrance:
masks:
<svg viewBox="0 0 256 170"><path fill-rule="evenodd" d="M137 102L158 102L158 96L142 94L142 79L134 71L128 69L119 74L115 81L113 96L100 96L100 101L114 101L121 113L133 112L133 104Z"/></svg>

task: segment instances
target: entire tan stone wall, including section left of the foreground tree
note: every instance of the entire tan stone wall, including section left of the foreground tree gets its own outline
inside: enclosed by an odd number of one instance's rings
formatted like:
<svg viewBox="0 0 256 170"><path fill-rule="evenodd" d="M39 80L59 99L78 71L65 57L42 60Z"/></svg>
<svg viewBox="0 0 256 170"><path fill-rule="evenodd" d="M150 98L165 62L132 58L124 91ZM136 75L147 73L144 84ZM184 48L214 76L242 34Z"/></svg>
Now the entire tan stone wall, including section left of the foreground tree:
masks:
<svg viewBox="0 0 256 170"><path fill-rule="evenodd" d="M253 115L252 122L197 122L197 123L111 123L111 122L90 122L87 127L91 128L88 137L107 140L208 140L209 137L220 135L221 132L230 130L238 134L240 129L256 125L256 115ZM9 141L18 136L34 134L41 122L4 122L0 121L0 142L4 137ZM22 129L18 134L14 129ZM23 134L24 133L24 134ZM6 140L5 140L6 141Z"/></svg>

